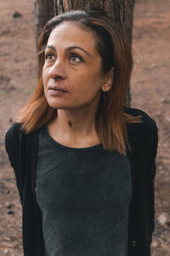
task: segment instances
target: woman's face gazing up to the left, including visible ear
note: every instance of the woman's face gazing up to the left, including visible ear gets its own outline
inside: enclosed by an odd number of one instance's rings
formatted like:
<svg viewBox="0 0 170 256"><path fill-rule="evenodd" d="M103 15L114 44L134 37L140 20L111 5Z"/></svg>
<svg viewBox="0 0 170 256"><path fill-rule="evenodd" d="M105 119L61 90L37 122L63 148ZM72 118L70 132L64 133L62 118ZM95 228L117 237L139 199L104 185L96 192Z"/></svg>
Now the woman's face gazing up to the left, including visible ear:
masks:
<svg viewBox="0 0 170 256"><path fill-rule="evenodd" d="M42 70L44 93L52 108L82 108L99 102L105 77L94 33L75 22L56 26L48 38Z"/></svg>

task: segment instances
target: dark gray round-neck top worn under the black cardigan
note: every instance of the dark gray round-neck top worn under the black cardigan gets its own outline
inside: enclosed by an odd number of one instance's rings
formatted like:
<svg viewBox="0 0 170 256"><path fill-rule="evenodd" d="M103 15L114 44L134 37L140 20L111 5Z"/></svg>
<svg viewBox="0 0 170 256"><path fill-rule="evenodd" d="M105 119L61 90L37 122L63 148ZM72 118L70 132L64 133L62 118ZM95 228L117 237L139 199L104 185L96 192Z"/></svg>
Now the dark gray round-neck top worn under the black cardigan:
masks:
<svg viewBox="0 0 170 256"><path fill-rule="evenodd" d="M35 190L47 256L127 256L132 177L126 156L101 144L65 147L43 126Z"/></svg>

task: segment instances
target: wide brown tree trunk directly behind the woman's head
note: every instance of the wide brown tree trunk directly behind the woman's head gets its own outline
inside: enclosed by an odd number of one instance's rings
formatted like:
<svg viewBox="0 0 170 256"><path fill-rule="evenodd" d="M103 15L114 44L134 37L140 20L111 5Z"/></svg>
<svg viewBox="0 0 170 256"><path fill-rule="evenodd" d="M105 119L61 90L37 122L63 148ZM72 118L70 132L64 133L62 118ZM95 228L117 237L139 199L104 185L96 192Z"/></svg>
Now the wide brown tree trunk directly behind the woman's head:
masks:
<svg viewBox="0 0 170 256"><path fill-rule="evenodd" d="M132 43L133 5L134 0L54 0L56 15L68 12L71 9L86 9L88 7L105 9L108 15L121 23L130 44ZM125 98L127 105L130 105L130 100L130 85L128 84Z"/></svg>

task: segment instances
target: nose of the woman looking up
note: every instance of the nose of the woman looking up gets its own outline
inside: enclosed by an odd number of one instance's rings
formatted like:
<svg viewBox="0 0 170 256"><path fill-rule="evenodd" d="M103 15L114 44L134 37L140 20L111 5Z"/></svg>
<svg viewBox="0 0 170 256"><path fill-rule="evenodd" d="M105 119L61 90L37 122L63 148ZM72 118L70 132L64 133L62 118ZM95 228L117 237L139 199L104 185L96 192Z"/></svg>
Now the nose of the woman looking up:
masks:
<svg viewBox="0 0 170 256"><path fill-rule="evenodd" d="M64 63L61 60L56 60L54 65L49 69L49 76L54 80L63 80L65 79L65 67Z"/></svg>

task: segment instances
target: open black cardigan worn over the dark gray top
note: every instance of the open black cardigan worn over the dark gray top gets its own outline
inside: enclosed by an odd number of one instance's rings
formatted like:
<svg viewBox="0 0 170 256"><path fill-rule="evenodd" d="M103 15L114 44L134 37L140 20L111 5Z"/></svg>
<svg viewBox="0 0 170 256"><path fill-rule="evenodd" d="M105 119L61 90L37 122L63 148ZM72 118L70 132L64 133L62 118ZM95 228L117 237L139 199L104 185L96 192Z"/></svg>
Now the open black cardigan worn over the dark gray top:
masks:
<svg viewBox="0 0 170 256"><path fill-rule="evenodd" d="M143 122L127 125L131 151L133 197L129 209L127 256L150 256L150 241L154 230L154 177L156 174L157 128L153 119L134 108L126 108L133 116L141 115ZM20 193L23 218L23 247L25 256L44 256L42 212L35 196L35 171L38 132L26 134L14 123L6 133L6 150L14 168ZM80 255L81 256L81 255ZM116 256L116 255L115 255Z"/></svg>

